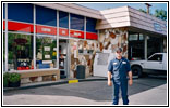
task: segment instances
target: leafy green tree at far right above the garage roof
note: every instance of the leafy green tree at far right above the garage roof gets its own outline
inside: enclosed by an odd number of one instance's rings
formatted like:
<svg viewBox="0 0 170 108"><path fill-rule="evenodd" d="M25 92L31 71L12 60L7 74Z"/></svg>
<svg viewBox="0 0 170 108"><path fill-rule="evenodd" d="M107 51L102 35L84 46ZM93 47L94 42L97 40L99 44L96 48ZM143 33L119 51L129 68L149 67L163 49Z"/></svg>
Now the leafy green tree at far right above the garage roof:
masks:
<svg viewBox="0 0 170 108"><path fill-rule="evenodd" d="M167 11L165 10L155 10L155 16L160 18L160 19L163 19L163 21L167 21Z"/></svg>

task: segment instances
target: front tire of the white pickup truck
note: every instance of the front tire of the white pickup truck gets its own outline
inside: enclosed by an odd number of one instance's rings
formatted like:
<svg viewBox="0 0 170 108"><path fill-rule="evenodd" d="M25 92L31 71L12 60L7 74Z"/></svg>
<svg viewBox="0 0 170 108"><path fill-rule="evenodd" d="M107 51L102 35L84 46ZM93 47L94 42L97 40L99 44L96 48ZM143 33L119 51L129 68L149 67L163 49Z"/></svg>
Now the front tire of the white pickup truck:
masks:
<svg viewBox="0 0 170 108"><path fill-rule="evenodd" d="M142 77L142 68L139 66L133 66L132 67L132 75L133 77L141 78Z"/></svg>

